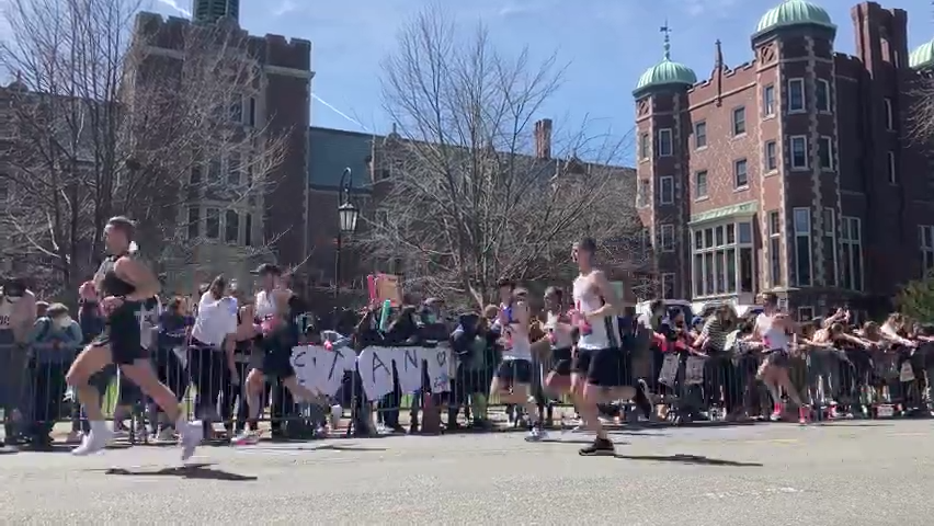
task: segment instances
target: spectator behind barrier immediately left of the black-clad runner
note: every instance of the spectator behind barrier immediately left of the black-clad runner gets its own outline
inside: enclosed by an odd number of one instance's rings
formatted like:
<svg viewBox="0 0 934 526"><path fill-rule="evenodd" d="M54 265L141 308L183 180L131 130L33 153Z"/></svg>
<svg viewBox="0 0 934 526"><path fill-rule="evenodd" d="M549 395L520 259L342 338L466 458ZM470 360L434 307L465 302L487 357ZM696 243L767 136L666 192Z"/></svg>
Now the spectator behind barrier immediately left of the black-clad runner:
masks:
<svg viewBox="0 0 934 526"><path fill-rule="evenodd" d="M68 316L68 307L53 304L35 322L30 335L30 373L33 381L33 415L30 439L37 448L52 446L52 428L61 410L65 374L81 348L81 327Z"/></svg>

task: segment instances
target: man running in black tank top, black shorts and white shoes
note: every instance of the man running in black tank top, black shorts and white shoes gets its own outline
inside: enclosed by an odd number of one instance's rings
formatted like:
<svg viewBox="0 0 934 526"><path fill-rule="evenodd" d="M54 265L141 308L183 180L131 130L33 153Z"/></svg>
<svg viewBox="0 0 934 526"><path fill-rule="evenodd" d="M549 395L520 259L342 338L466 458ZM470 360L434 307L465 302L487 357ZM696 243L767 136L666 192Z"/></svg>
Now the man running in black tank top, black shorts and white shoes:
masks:
<svg viewBox="0 0 934 526"><path fill-rule="evenodd" d="M200 424L185 420L175 395L159 381L152 363L141 343L143 306L159 294L159 282L152 272L130 255L134 224L125 217L113 217L104 228L107 258L98 270L94 281L103 296L101 310L106 317L104 332L78 355L68 371L68 385L78 392L87 411L91 431L72 453L90 455L106 447L112 431L104 422L101 397L89 379L110 364L119 367L139 389L149 396L166 414L176 422L181 435L182 459L187 460L202 441Z"/></svg>

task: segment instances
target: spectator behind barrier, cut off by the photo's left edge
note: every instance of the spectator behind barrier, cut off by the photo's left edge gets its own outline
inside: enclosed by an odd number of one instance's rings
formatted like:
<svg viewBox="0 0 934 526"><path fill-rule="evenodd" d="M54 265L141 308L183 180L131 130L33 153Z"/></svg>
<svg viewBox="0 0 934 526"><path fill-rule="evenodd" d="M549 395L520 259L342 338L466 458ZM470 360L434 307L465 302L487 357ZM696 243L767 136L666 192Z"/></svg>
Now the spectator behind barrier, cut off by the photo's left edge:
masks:
<svg viewBox="0 0 934 526"><path fill-rule="evenodd" d="M0 409L5 442L16 442L13 422L23 395L29 338L36 320L36 297L23 279L5 279L0 290Z"/></svg>

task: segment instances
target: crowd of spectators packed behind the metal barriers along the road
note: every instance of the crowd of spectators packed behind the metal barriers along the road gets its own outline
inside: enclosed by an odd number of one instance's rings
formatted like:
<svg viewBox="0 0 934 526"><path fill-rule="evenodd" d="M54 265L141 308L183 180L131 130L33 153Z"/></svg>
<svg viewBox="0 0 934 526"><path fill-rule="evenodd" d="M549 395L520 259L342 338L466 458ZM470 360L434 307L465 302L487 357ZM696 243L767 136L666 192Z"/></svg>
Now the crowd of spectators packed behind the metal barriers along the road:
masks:
<svg viewBox="0 0 934 526"><path fill-rule="evenodd" d="M66 392L65 374L77 353L103 330L104 319L90 284L82 286L79 296L72 318L68 307L36 300L21 283L13 281L3 286L0 298L0 409L4 413L8 443L48 446L54 423L62 419L71 421L69 441L78 441L87 432L79 405L69 403L72 397ZM239 294L238 300L246 305L250 298ZM239 385L228 381L223 389L207 389L200 385L198 377L203 375L192 373L187 344L196 301L193 297L173 297L161 304L163 308L151 327L150 346L160 379L179 393L180 401L190 385L196 386L195 392L217 392L221 403L209 400L192 407L218 408L219 414L201 416L224 422L225 432L220 435L234 436L247 425ZM422 389L408 397L410 393L401 392L397 381L394 392L371 402L364 400L353 375L348 375L332 401L333 408L353 409L354 430L363 434L376 432L376 428L397 433L440 431L462 427L465 425L462 422L479 428L491 427L488 391L501 353L500 338L492 323L498 308L490 305L482 311L453 316L441 299L418 301L407 297L386 320L380 320L380 309L381 305L374 304L353 316L356 325L344 330L351 332L351 345L362 350L375 344L446 342L457 364L451 391L432 395L429 389ZM649 408L629 411L628 401L623 401L602 408L603 416L675 421L778 420L783 418L779 405L793 400L801 400L812 418L930 414L934 328L899 313L892 313L881 323L857 324L845 308L833 309L825 317L813 320L796 320L790 325L788 381L781 386L781 400L775 400L774 393L770 396L763 389L759 375L763 348L751 338L756 316L758 311L753 311L739 317L727 304L691 319L684 309L669 308L662 300L651 302L641 316L629 309L619 319L623 341L628 342L627 352L633 354L633 359L627 361L631 366L627 375L649 386L652 403ZM348 317L332 316L337 318L345 320ZM319 318L309 315L309 319L312 321L305 331L306 342L340 338L338 333L326 335L328 331L321 329L327 323ZM537 318L533 332L533 341L546 335ZM238 376L244 378L251 367L249 351L241 353L240 358ZM547 346L536 354L536 362L543 371L549 369ZM542 420L554 425L554 408L567 400L555 400L542 388L540 378L537 380ZM104 399L115 402L113 416L117 432L145 434L153 441L174 439L171 423L164 422L139 390L118 378L112 367L99 373L93 384ZM297 419L300 425L291 422L299 412L287 390L267 388L265 395L271 403L274 437L295 435L299 428L307 431L307 418ZM410 402L408 428L402 425L399 413L406 400ZM446 418L440 408L446 409ZM376 409L375 427L368 418L371 409ZM516 422L522 419L517 408L508 408L508 413ZM128 427L126 422L134 420L148 425ZM312 431L334 424L333 418L328 422L322 414L314 415L312 420Z"/></svg>

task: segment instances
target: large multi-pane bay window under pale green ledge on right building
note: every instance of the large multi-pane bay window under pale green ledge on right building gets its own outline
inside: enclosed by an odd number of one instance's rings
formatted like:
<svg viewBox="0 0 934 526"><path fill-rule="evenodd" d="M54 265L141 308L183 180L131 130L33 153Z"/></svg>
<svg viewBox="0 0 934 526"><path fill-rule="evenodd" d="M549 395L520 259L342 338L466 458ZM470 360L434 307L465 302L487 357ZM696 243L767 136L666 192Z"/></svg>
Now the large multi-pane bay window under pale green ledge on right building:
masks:
<svg viewBox="0 0 934 526"><path fill-rule="evenodd" d="M695 227L691 261L694 297L752 293L755 282L752 222Z"/></svg>

